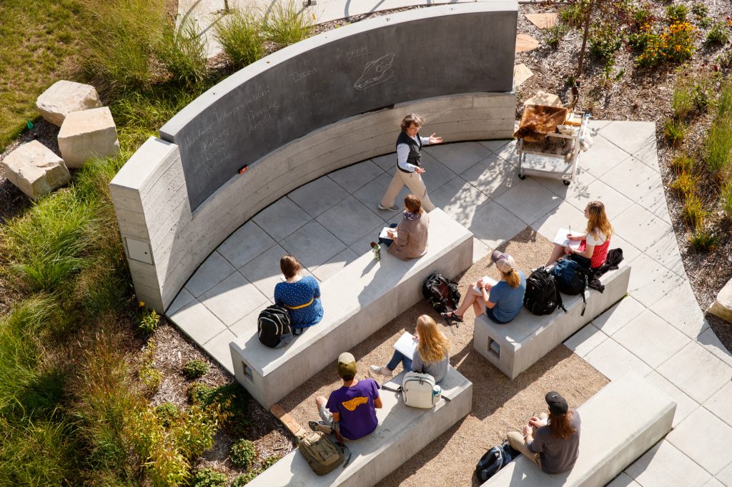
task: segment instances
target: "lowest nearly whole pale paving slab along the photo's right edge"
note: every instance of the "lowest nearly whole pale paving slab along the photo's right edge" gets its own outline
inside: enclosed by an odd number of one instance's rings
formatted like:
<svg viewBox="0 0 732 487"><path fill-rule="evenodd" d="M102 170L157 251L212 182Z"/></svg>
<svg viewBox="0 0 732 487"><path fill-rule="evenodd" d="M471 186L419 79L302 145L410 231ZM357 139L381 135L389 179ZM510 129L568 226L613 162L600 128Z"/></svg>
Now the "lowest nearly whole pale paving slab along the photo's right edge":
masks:
<svg viewBox="0 0 732 487"><path fill-rule="evenodd" d="M726 467L732 458L732 426L700 407L666 437L671 445L712 475ZM703 445L703 448L699 448Z"/></svg>

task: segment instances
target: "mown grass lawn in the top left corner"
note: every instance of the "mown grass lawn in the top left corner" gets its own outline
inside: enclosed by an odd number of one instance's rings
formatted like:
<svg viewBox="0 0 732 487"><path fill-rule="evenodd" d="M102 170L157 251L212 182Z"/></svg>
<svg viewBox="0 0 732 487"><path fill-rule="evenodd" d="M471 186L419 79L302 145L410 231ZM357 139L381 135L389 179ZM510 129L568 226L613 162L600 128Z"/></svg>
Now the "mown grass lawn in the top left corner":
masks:
<svg viewBox="0 0 732 487"><path fill-rule="evenodd" d="M38 116L37 97L73 74L80 0L0 1L0 151Z"/></svg>

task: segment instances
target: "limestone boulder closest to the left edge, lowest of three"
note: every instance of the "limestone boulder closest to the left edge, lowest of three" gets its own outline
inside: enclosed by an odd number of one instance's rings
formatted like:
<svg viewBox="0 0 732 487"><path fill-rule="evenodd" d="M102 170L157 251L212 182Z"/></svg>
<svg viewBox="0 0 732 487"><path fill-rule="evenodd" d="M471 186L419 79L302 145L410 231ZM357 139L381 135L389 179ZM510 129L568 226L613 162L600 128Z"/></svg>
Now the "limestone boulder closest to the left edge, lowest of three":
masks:
<svg viewBox="0 0 732 487"><path fill-rule="evenodd" d="M34 200L71 180L64 159L37 140L12 151L2 165L7 180Z"/></svg>

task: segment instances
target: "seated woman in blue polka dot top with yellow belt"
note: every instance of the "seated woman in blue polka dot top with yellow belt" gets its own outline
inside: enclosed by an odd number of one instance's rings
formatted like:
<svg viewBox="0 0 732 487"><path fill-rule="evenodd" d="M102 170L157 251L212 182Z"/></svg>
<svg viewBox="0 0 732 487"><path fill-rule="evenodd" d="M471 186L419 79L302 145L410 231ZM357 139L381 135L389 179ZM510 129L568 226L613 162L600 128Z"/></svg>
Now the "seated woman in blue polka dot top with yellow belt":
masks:
<svg viewBox="0 0 732 487"><path fill-rule="evenodd" d="M317 325L323 319L320 286L313 276L299 275L300 263L290 254L280 259L285 282L275 286L275 304L285 306L290 314L292 333L299 335L305 328Z"/></svg>

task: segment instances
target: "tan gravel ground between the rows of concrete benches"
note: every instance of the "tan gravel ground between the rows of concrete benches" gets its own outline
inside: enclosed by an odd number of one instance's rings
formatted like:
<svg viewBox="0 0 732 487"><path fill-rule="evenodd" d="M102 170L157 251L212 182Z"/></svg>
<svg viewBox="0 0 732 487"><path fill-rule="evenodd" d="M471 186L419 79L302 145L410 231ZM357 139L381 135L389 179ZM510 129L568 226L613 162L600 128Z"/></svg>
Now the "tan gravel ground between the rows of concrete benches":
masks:
<svg viewBox="0 0 732 487"><path fill-rule="evenodd" d="M527 228L500 249L512 254L528 275L531 268L545 262L551 243ZM485 274L498 277L490 256L474 264L460 277L460 292L468 283ZM370 377L369 365L383 365L391 358L392 345L404 331L414 333L420 314L430 314L438 323L444 324L426 301L420 301L350 350L356 357L358 377ZM445 479L450 479L451 485L472 483L477 486L479 483L473 475L476 462L486 450L499 444L507 431L518 431L534 412L545 410L545 393L557 390L564 395L570 407L576 407L609 382L564 345L556 347L515 380L509 380L473 350L472 309L466 312L464 319L455 334L447 326L444 333L451 342L450 363L473 382L471 413L389 474L380 486L444 486ZM400 370L397 367L397 372ZM380 383L384 382L384 377L375 378ZM327 397L338 387L340 379L334 362L287 396L280 405L298 423L307 427L308 420L318 419L315 396Z"/></svg>

